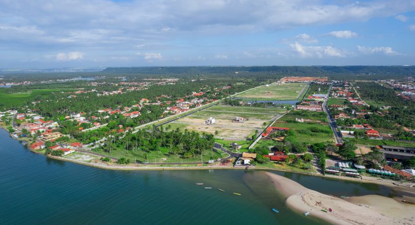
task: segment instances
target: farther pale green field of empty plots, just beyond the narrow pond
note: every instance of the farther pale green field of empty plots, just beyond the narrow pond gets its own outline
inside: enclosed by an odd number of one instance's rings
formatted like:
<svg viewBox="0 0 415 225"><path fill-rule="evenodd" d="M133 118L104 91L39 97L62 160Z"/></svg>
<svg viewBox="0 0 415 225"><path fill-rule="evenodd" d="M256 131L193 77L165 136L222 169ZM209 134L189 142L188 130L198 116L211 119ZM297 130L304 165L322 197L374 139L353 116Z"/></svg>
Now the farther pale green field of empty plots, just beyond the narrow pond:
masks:
<svg viewBox="0 0 415 225"><path fill-rule="evenodd" d="M265 85L256 87L235 97L247 100L296 100L307 87L308 84L304 83L273 83L268 87Z"/></svg>

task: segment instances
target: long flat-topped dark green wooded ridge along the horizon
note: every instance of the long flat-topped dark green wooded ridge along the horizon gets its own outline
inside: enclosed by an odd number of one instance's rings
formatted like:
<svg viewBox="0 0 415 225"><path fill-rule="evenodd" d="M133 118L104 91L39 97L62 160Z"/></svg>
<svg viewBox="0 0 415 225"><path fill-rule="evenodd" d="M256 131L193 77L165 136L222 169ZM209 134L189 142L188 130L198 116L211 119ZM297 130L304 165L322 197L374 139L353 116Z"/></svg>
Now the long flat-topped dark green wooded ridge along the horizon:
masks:
<svg viewBox="0 0 415 225"><path fill-rule="evenodd" d="M278 76L329 76L332 79L392 79L415 76L415 66L256 66L256 67L129 67L107 68L104 73L146 75L278 75Z"/></svg>

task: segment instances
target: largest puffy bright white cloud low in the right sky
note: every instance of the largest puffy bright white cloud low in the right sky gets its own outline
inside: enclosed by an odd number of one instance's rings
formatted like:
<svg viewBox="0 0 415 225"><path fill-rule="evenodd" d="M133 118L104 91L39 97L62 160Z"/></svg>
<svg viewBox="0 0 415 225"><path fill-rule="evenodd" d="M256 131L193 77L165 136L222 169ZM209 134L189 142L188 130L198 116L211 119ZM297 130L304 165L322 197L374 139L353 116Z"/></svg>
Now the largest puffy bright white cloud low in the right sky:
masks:
<svg viewBox="0 0 415 225"><path fill-rule="evenodd" d="M324 56L329 57L344 57L345 55L341 50L332 46L304 46L298 42L290 44L289 47L295 53L302 58L317 57L322 58Z"/></svg>

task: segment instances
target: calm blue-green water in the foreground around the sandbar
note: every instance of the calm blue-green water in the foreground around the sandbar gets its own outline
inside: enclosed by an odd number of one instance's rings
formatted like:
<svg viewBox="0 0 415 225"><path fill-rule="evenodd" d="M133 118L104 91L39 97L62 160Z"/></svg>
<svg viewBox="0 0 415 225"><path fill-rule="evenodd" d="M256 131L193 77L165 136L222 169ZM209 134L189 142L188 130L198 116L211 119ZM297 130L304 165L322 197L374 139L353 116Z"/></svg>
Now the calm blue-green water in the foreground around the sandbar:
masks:
<svg viewBox="0 0 415 225"><path fill-rule="evenodd" d="M326 224L287 209L262 171L102 170L32 153L3 129L0 168L0 224ZM399 195L375 184L278 174L325 194Z"/></svg>

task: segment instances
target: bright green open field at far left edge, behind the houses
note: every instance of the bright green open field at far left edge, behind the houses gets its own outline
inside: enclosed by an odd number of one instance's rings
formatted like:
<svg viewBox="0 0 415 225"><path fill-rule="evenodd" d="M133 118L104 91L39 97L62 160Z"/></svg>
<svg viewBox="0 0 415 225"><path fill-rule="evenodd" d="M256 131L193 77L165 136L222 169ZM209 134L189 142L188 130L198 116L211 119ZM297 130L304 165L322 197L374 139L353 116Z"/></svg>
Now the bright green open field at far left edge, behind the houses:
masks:
<svg viewBox="0 0 415 225"><path fill-rule="evenodd" d="M60 91L72 91L72 89L33 89L26 92L7 93L6 88L0 88L0 108L18 107Z"/></svg>

